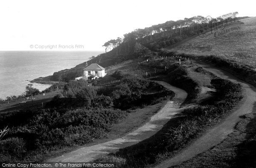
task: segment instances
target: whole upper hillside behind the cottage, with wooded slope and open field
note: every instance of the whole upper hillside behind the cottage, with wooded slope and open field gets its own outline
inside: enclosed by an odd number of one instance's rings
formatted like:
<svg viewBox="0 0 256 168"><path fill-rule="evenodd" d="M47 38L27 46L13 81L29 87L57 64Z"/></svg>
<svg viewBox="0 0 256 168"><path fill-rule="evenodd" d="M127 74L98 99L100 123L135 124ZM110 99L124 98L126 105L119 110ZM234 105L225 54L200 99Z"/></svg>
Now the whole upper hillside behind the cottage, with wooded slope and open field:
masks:
<svg viewBox="0 0 256 168"><path fill-rule="evenodd" d="M136 29L131 33L125 34L122 43L119 43L117 47L91 59L88 64L97 63L102 67L109 67L122 61L153 56L161 48L169 46L164 50L189 55L216 55L256 68L256 58L254 56L256 53L256 17L218 22L213 25L215 26L210 28L209 24L198 26L193 23L189 28L185 26L182 31L179 28L160 31L160 28L163 29L165 27L160 24L158 25L160 27L155 28L156 30L151 30L154 32L153 35L141 32L144 29ZM171 24L169 26L172 27L174 25ZM202 27L202 29L197 30L196 26ZM177 31L178 29L180 33ZM211 29L212 31L210 31ZM155 52L150 52L149 49ZM82 63L69 70L61 70L45 78L38 78L35 82L70 81L81 76L84 67L85 63Z"/></svg>

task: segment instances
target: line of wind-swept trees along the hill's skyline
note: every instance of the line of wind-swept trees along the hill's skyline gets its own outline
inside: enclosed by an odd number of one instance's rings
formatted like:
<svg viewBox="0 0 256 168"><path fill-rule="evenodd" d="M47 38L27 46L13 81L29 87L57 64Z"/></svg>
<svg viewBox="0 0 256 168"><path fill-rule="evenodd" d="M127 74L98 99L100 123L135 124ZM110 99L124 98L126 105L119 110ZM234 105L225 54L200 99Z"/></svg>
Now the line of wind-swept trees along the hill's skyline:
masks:
<svg viewBox="0 0 256 168"><path fill-rule="evenodd" d="M165 23L146 27L144 29L135 29L133 32L124 35L124 38L111 39L104 43L105 54L108 50L115 50L116 55L120 52L130 52L134 49L135 44L141 43L149 49L165 47L181 41L184 38L195 34L203 34L207 30L217 29L219 25L224 25L244 17L231 17L223 20L211 17L195 16L184 18L184 20L167 21ZM154 43L154 42L160 43ZM165 43L163 43L165 42ZM152 47L152 45L159 45ZM119 46L119 47L118 47Z"/></svg>

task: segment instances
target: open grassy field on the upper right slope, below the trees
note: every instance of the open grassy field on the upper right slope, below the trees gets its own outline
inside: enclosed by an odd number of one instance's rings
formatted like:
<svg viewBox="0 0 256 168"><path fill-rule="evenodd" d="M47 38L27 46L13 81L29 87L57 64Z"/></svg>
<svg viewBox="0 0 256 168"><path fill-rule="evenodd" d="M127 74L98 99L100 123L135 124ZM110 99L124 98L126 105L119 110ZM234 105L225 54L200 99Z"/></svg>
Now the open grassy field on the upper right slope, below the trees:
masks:
<svg viewBox="0 0 256 168"><path fill-rule="evenodd" d="M170 50L190 55L216 55L256 68L256 17L228 23Z"/></svg>

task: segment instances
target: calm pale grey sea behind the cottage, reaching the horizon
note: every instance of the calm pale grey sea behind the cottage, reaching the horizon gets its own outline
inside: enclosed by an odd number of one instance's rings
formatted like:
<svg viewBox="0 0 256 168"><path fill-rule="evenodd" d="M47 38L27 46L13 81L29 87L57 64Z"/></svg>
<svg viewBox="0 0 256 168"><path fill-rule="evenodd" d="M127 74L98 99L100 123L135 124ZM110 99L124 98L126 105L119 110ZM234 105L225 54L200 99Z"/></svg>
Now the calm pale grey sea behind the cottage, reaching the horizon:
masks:
<svg viewBox="0 0 256 168"><path fill-rule="evenodd" d="M102 51L0 51L0 98L25 92L29 81L70 69ZM44 90L50 85L32 84Z"/></svg>

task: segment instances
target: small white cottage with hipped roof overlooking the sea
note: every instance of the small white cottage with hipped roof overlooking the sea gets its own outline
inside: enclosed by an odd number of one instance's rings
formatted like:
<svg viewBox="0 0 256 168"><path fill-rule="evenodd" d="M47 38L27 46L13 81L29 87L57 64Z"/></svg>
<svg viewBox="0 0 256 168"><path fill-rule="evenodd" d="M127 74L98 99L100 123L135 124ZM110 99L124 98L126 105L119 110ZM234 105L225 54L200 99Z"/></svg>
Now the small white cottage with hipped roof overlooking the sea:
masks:
<svg viewBox="0 0 256 168"><path fill-rule="evenodd" d="M88 80L89 76L92 76L92 78L100 78L104 77L106 75L105 68L98 64L90 64L88 67L84 68L84 78Z"/></svg>

